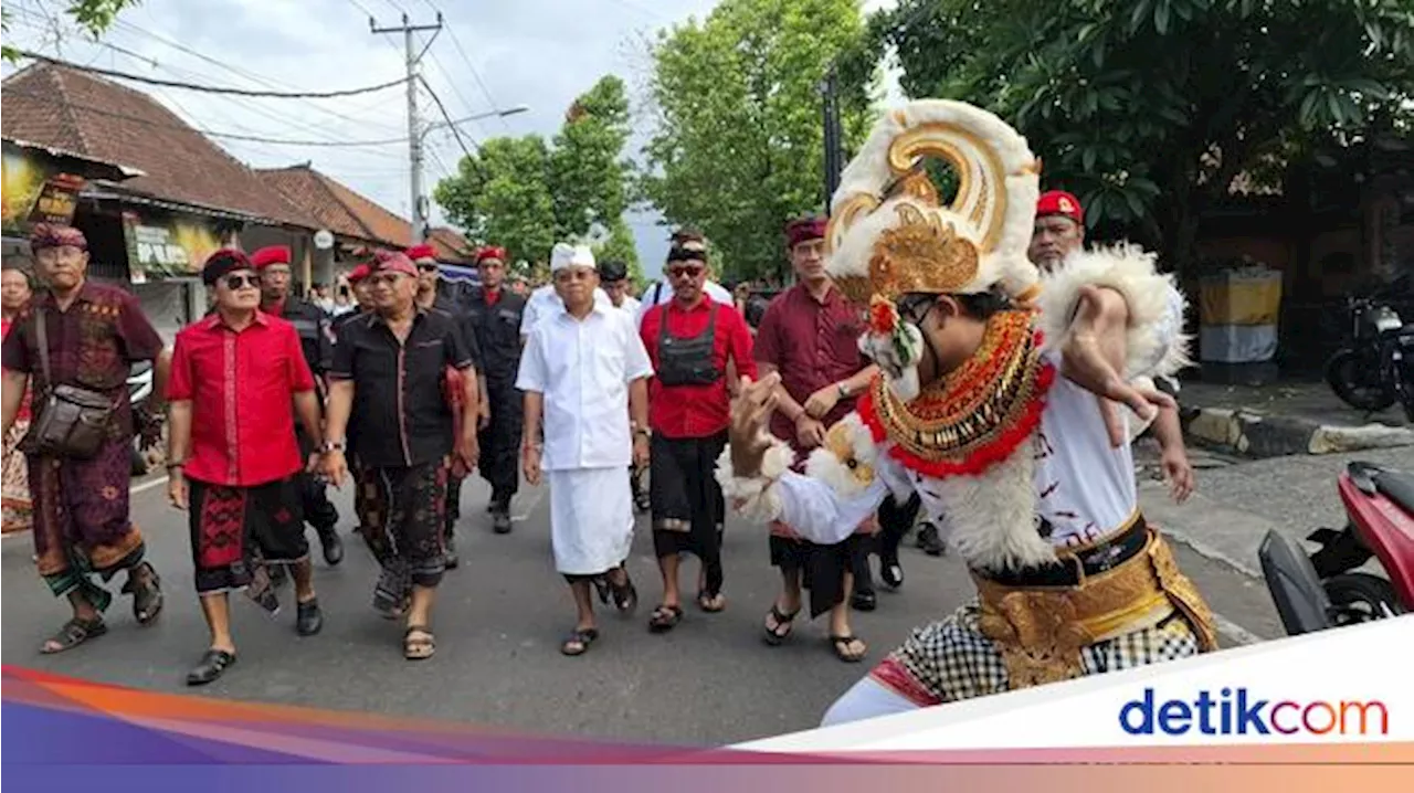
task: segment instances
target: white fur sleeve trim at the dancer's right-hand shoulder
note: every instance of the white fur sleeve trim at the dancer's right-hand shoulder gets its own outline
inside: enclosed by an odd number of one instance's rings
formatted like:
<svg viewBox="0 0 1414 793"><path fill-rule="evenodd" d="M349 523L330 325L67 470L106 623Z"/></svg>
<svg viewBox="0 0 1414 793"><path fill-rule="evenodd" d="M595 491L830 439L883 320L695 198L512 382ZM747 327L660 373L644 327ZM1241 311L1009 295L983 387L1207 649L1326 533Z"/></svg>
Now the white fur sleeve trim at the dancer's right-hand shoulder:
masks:
<svg viewBox="0 0 1414 793"><path fill-rule="evenodd" d="M1127 379L1168 377L1191 365L1191 336L1184 334L1188 300L1172 276L1158 271L1152 253L1128 243L1076 252L1042 277L1036 302L1045 352L1065 345L1083 286L1110 287L1128 304Z"/></svg>

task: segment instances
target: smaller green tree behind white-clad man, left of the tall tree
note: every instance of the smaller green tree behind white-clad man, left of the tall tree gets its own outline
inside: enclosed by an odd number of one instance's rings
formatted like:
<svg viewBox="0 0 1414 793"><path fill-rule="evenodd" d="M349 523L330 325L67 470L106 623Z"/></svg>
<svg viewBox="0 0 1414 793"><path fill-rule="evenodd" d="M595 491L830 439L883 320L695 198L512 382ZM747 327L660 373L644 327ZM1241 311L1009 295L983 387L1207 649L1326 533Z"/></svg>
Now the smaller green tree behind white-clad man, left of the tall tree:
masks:
<svg viewBox="0 0 1414 793"><path fill-rule="evenodd" d="M491 139L433 196L472 240L505 246L513 259L544 259L557 240L612 236L622 223L628 137L624 82L608 75L575 99L549 143Z"/></svg>

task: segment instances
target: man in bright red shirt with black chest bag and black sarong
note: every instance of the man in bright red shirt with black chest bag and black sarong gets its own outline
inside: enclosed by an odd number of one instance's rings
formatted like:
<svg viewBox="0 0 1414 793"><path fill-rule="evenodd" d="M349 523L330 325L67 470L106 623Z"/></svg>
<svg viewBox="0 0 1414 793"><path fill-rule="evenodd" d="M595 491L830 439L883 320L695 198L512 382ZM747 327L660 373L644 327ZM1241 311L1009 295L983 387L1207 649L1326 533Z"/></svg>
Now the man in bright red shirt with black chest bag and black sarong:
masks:
<svg viewBox="0 0 1414 793"><path fill-rule="evenodd" d="M683 616L679 554L701 560L699 608L725 608L725 503L713 472L727 447L728 363L738 376L756 377L747 321L735 307L718 304L706 293L710 269L701 237L674 236L663 274L673 286L673 300L652 307L639 327L655 372L648 417L653 433L649 500L653 551L663 574L663 601L649 622L655 632L670 630Z"/></svg>

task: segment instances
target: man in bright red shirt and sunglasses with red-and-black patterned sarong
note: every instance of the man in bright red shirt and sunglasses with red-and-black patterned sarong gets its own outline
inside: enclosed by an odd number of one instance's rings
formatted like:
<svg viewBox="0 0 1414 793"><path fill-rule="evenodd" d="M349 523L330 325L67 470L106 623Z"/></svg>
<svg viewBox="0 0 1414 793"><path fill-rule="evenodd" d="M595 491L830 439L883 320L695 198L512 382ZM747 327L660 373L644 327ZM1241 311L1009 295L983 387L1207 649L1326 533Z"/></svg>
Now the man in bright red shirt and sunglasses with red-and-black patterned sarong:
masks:
<svg viewBox="0 0 1414 793"><path fill-rule="evenodd" d="M314 448L322 447L320 399L300 334L259 310L260 276L239 250L211 254L201 278L215 293L215 311L177 334L167 387L167 489L173 506L189 515L197 595L211 628L211 647L188 686L211 683L236 662L229 591L245 588L279 611L267 565L293 567L297 632L312 636L324 622L304 539L298 474L305 465L290 410L293 401Z"/></svg>

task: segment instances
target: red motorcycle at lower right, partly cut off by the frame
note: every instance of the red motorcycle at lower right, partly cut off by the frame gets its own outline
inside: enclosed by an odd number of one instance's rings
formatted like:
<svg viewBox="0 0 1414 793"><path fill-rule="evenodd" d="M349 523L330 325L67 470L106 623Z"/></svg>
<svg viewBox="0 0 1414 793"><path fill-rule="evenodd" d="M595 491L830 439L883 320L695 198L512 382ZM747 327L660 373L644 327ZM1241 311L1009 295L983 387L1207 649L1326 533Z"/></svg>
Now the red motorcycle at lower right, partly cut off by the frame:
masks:
<svg viewBox="0 0 1414 793"><path fill-rule="evenodd" d="M1311 633L1414 612L1414 475L1352 462L1336 489L1345 503L1345 529L1318 529L1307 554L1295 541L1268 531L1258 557L1267 589L1287 633ZM1360 572L1379 558L1386 577Z"/></svg>

